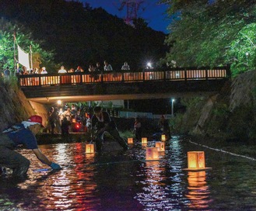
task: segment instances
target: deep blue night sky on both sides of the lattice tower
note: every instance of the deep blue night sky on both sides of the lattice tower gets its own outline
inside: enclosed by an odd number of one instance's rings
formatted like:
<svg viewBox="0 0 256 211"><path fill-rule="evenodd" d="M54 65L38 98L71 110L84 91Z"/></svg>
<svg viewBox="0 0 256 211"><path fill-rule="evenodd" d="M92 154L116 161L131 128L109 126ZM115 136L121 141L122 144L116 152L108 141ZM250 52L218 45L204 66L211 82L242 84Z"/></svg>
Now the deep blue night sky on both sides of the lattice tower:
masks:
<svg viewBox="0 0 256 211"><path fill-rule="evenodd" d="M140 1L140 0L138 0ZM126 7L119 11L121 8L121 0L80 0L80 2L87 2L94 8L103 8L108 13L124 18L126 16ZM145 0L141 5L138 12L138 17L145 19L149 23L149 27L156 31L162 31L168 33L167 26L170 23L170 19L167 19L167 15L164 14L167 10L167 5L158 5L159 0Z"/></svg>

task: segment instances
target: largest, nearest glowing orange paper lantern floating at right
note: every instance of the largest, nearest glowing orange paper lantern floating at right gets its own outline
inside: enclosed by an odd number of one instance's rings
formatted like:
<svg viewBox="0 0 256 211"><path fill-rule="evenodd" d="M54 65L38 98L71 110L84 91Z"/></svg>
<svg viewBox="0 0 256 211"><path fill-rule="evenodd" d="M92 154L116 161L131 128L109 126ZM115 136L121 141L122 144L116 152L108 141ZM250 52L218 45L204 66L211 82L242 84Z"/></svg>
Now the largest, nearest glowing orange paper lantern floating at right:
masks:
<svg viewBox="0 0 256 211"><path fill-rule="evenodd" d="M201 171L205 168L205 152L204 151L188 151L188 168L184 170Z"/></svg>

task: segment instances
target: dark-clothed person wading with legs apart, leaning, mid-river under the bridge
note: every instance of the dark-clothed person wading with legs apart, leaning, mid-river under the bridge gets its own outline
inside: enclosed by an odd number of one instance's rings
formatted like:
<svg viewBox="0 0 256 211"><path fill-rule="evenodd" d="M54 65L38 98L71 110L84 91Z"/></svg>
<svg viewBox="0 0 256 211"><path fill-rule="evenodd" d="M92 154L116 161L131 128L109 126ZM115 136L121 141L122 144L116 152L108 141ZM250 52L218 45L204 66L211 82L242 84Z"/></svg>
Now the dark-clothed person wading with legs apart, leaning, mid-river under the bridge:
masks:
<svg viewBox="0 0 256 211"><path fill-rule="evenodd" d="M120 144L124 150L128 150L128 144L122 137L120 137L117 126L114 121L110 119L109 113L102 111L100 106L96 106L93 111L92 129L96 130L94 134L96 151L99 153L102 152L104 132L110 133L114 140L117 140L118 144Z"/></svg>

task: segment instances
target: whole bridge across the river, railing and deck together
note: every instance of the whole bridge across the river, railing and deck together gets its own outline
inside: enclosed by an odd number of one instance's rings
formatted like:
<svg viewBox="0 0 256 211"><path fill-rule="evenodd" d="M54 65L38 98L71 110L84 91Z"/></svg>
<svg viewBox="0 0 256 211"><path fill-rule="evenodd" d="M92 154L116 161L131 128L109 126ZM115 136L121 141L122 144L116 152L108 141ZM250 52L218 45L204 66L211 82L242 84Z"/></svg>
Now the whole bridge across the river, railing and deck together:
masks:
<svg viewBox="0 0 256 211"><path fill-rule="evenodd" d="M229 79L230 67L224 66L26 74L18 76L18 83L28 100L52 103L212 95Z"/></svg>

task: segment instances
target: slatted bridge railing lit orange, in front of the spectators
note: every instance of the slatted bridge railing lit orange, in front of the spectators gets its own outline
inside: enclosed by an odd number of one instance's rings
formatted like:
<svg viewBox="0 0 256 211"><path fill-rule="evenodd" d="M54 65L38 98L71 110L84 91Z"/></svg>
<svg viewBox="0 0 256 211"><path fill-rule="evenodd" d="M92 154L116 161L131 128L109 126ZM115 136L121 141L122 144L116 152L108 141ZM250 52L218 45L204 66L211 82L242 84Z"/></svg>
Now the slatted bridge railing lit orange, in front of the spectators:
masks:
<svg viewBox="0 0 256 211"><path fill-rule="evenodd" d="M88 72L67 74L23 74L18 75L18 83L20 87L30 87L113 82L216 80L223 78L230 78L229 67L178 67L172 69L148 69L136 72L113 71L93 74Z"/></svg>

